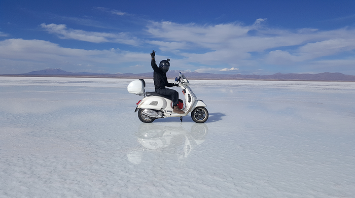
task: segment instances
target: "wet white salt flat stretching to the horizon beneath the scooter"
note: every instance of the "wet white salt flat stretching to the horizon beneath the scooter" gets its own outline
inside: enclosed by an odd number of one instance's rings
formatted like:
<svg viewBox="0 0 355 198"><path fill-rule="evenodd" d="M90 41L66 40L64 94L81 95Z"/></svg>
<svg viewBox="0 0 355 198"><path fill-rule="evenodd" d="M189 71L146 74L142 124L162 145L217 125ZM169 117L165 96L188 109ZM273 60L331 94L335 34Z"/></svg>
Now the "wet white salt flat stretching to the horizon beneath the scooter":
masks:
<svg viewBox="0 0 355 198"><path fill-rule="evenodd" d="M355 194L355 83L192 80L207 122L144 124L130 81L0 77L0 197Z"/></svg>

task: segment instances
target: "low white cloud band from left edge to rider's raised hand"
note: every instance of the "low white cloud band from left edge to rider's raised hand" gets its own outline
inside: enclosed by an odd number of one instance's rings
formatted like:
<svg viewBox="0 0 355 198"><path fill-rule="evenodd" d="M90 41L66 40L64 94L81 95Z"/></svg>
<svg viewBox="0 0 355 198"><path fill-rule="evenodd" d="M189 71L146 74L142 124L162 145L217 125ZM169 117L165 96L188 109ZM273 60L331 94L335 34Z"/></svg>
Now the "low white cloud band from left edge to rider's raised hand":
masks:
<svg viewBox="0 0 355 198"><path fill-rule="evenodd" d="M41 40L8 39L0 41L0 59L4 65L17 63L17 68L23 67L66 67L72 70L81 65L118 65L122 63L147 61L147 54L128 52L122 50L83 50L63 48L57 44ZM149 59L149 58L148 58ZM5 63L6 62L6 63ZM22 65L22 66L21 66ZM65 66L67 65L67 66ZM59 67L60 66L60 67ZM22 69L23 69L22 68ZM2 68L0 74L6 74L9 68Z"/></svg>

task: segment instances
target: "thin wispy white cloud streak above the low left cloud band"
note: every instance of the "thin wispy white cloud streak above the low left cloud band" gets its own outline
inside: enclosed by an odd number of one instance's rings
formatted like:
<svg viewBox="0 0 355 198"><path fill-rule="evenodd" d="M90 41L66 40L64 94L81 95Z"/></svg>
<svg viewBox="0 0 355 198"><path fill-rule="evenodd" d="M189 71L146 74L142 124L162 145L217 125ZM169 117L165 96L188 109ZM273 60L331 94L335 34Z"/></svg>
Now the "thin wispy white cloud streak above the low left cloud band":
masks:
<svg viewBox="0 0 355 198"><path fill-rule="evenodd" d="M80 29L67 29L64 24L46 24L42 23L41 27L51 34L58 35L61 39L74 39L79 41L87 41L91 43L121 43L126 45L138 46L138 39L130 37L127 33L120 32L118 34L84 31Z"/></svg>

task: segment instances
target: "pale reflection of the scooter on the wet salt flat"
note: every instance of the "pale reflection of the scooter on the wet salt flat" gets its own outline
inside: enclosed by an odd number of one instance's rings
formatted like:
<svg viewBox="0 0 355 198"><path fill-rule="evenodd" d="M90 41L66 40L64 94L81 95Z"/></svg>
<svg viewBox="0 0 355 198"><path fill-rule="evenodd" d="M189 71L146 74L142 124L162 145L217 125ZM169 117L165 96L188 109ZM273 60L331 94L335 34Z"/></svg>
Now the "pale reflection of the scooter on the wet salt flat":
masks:
<svg viewBox="0 0 355 198"><path fill-rule="evenodd" d="M204 142L207 134L206 124L194 124L191 131L188 131L182 126L171 127L142 123L135 135L143 148L131 150L127 157L130 162L139 164L143 151L163 152L164 158L173 154L177 155L179 162L181 162L197 145Z"/></svg>

